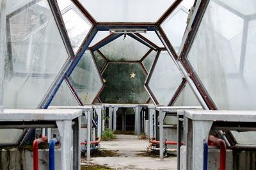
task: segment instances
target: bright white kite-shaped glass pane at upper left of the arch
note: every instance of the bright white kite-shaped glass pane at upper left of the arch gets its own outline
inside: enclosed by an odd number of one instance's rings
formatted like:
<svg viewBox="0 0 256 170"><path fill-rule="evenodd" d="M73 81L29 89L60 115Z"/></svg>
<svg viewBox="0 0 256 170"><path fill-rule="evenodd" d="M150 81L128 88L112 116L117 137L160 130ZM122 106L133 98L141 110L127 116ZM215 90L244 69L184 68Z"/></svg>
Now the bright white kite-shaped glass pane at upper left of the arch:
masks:
<svg viewBox="0 0 256 170"><path fill-rule="evenodd" d="M58 0L58 4L63 10L61 15L63 17L68 36L74 53L77 52L84 38L92 28L90 21L77 9L77 7L68 1ZM66 6L64 8L64 6Z"/></svg>

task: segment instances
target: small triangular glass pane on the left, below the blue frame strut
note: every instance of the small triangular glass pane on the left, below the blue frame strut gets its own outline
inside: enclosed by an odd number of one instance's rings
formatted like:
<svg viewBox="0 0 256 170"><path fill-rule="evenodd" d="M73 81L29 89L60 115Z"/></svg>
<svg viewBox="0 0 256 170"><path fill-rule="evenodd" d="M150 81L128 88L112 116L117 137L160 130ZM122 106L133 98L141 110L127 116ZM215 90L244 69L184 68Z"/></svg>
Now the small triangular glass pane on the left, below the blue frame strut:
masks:
<svg viewBox="0 0 256 170"><path fill-rule="evenodd" d="M52 99L51 106L80 106L65 80Z"/></svg>

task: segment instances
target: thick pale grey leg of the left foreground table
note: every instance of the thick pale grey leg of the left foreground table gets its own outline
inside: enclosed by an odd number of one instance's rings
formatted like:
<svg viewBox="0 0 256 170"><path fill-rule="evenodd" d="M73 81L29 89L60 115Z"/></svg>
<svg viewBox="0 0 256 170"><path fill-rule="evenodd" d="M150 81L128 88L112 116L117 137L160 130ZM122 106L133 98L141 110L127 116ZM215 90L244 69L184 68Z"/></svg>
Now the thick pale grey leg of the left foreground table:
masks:
<svg viewBox="0 0 256 170"><path fill-rule="evenodd" d="M60 169L71 169L71 136L72 136L72 121L71 120L57 120L58 130L61 136L61 160Z"/></svg>

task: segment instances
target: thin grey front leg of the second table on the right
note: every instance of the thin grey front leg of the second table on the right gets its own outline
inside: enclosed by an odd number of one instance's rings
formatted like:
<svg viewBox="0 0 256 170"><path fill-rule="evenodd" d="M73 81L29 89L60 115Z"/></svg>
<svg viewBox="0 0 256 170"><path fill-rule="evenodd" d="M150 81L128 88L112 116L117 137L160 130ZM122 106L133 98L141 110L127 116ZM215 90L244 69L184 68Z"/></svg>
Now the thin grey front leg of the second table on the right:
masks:
<svg viewBox="0 0 256 170"><path fill-rule="evenodd" d="M159 111L159 158L160 160L164 160L164 117L165 112Z"/></svg>

